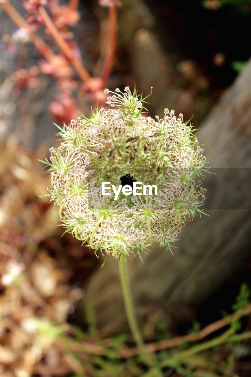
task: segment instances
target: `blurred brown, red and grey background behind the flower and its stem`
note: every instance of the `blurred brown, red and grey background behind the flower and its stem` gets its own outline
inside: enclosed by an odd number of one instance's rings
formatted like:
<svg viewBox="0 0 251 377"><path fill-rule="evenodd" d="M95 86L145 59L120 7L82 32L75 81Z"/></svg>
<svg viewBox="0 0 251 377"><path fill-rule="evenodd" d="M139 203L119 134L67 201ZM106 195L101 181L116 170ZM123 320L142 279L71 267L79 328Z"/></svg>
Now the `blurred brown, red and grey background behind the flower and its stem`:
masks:
<svg viewBox="0 0 251 377"><path fill-rule="evenodd" d="M192 118L217 173L204 182L210 217L186 224L174 256L153 246L143 264L129 261L146 341L233 311L251 285L250 25L250 0L0 1L1 376L142 375L105 365L107 346L132 345L118 262L100 271L102 255L62 236L57 208L40 197L53 123L106 106L105 87L153 87L149 115ZM251 375L250 342L217 352L233 356L232 374L166 375Z"/></svg>

